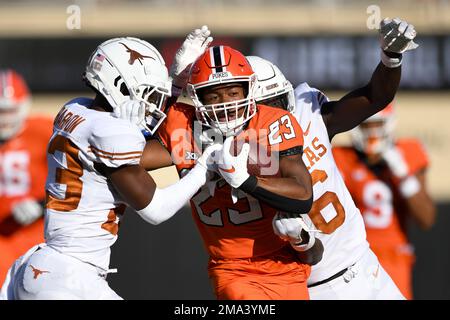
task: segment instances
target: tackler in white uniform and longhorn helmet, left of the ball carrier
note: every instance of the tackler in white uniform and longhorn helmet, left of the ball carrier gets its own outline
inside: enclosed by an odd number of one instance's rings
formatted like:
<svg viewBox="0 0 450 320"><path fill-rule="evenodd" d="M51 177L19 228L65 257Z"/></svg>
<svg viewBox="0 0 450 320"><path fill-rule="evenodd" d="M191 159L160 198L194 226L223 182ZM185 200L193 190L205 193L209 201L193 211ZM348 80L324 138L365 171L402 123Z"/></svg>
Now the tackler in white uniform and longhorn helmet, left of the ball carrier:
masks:
<svg viewBox="0 0 450 320"><path fill-rule="evenodd" d="M201 54L209 34L194 30L175 60L192 49ZM114 271L110 247L126 206L152 224L169 219L205 183L217 149L206 149L189 174L164 189L140 165L141 129L152 134L164 120L183 69L177 65L170 79L158 50L137 38L110 39L92 53L84 80L96 96L65 104L48 144L45 243L14 263L0 298L120 299L106 275Z"/></svg>

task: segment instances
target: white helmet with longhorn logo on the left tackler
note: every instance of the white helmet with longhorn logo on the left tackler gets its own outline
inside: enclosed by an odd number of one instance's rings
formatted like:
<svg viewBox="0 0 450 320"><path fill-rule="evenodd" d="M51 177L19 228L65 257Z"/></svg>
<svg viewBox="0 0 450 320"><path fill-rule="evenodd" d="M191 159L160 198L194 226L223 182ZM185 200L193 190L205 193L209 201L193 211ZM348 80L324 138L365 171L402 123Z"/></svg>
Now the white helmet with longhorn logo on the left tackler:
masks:
<svg viewBox="0 0 450 320"><path fill-rule="evenodd" d="M103 42L89 58L83 77L113 108L130 99L144 102L139 126L150 134L166 117L172 84L161 54L146 41L126 37Z"/></svg>

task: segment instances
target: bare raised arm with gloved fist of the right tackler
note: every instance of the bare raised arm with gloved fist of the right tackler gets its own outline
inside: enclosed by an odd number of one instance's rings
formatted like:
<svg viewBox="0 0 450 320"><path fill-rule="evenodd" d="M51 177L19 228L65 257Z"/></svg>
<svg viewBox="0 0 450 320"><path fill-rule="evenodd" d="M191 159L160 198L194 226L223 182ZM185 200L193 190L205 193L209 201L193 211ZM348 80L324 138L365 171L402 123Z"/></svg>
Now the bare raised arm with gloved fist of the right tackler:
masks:
<svg viewBox="0 0 450 320"><path fill-rule="evenodd" d="M402 54L418 47L414 26L400 19L384 19L380 25L381 62L369 83L338 101L322 106L322 117L330 140L348 131L386 107L397 92Z"/></svg>

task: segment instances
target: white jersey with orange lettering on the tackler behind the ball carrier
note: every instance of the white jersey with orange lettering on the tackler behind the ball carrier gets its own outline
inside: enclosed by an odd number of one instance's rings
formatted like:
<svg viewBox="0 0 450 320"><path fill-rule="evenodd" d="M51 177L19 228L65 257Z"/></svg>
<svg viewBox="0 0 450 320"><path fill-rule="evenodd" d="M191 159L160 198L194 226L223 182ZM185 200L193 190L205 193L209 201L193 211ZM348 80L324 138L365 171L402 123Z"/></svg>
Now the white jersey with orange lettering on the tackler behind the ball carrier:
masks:
<svg viewBox="0 0 450 320"><path fill-rule="evenodd" d="M303 129L303 161L311 173L314 204L308 216L323 233L322 260L314 265L308 284L325 280L355 263L369 248L364 221L345 186L331 151L321 115L328 99L306 83L295 89L294 115Z"/></svg>

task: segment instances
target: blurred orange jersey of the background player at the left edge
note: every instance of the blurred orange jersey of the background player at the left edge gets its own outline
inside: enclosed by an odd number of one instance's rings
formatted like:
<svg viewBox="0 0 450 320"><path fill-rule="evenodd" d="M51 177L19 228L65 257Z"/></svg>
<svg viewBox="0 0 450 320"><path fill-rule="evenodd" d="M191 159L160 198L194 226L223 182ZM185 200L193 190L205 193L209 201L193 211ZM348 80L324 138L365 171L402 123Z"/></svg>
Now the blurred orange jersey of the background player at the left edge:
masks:
<svg viewBox="0 0 450 320"><path fill-rule="evenodd" d="M0 145L0 281L15 259L44 241L42 218L24 227L15 222L11 209L26 198L44 200L52 128L52 118L30 116L17 136Z"/></svg>

